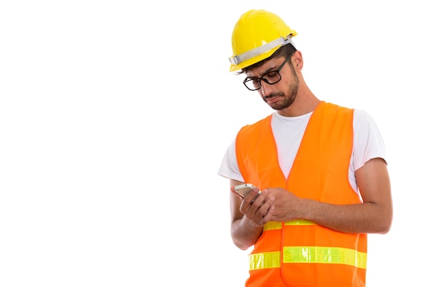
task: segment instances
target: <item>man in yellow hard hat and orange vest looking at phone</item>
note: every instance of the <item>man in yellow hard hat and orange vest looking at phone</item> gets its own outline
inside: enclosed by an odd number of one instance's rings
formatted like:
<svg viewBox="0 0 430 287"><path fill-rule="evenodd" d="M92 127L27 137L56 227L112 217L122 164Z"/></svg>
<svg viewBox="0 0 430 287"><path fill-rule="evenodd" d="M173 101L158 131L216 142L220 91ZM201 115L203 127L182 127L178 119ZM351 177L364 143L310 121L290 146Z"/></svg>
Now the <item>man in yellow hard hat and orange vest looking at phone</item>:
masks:
<svg viewBox="0 0 430 287"><path fill-rule="evenodd" d="M365 111L310 91L296 35L266 10L234 27L230 71L275 111L241 128L220 165L231 238L253 246L245 286L365 286L367 233L392 224L383 139ZM244 183L256 188L240 198Z"/></svg>

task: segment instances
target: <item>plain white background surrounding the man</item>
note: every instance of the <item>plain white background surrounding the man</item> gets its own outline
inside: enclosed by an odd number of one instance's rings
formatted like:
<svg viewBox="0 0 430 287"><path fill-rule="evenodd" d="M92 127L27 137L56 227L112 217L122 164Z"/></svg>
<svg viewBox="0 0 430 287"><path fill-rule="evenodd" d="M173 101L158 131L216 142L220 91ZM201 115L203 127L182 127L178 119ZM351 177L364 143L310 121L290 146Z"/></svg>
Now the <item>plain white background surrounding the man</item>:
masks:
<svg viewBox="0 0 430 287"><path fill-rule="evenodd" d="M147 4L146 4L147 3ZM2 1L0 286L242 286L217 175L271 113L228 71L249 9L298 32L321 100L387 147L394 224L367 286L429 286L425 1Z"/></svg>

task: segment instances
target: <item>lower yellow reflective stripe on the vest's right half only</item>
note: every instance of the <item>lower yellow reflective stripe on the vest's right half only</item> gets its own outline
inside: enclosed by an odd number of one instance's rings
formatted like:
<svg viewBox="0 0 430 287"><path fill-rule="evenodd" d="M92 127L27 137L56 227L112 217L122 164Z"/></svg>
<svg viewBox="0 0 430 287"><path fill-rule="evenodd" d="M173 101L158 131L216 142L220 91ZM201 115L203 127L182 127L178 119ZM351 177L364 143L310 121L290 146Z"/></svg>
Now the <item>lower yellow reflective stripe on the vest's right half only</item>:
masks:
<svg viewBox="0 0 430 287"><path fill-rule="evenodd" d="M283 262L346 264L366 268L367 253L340 247L291 246L284 247Z"/></svg>

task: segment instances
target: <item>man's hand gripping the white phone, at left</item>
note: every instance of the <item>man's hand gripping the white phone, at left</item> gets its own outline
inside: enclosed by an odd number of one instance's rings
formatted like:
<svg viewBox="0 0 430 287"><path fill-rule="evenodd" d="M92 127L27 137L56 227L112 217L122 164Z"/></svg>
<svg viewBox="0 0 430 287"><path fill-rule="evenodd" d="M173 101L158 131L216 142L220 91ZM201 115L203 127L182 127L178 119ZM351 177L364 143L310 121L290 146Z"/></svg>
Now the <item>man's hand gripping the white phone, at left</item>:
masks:
<svg viewBox="0 0 430 287"><path fill-rule="evenodd" d="M258 227L262 227L271 220L275 198L269 196L267 190L259 193L258 188L254 188L243 198L240 205L240 212L251 220Z"/></svg>

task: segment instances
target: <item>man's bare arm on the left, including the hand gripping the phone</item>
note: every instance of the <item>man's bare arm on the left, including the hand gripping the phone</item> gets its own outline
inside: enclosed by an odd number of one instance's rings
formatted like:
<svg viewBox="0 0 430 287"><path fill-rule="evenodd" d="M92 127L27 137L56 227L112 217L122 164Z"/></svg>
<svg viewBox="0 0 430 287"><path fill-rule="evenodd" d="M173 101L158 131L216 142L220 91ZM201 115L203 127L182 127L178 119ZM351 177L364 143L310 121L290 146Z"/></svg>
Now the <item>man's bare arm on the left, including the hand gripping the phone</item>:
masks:
<svg viewBox="0 0 430 287"><path fill-rule="evenodd" d="M230 187L243 184L230 179ZM257 198L256 198L257 196ZM273 196L268 191L258 195L258 188L249 192L243 200L230 192L231 239L242 250L256 243L263 230L263 225L274 211Z"/></svg>

